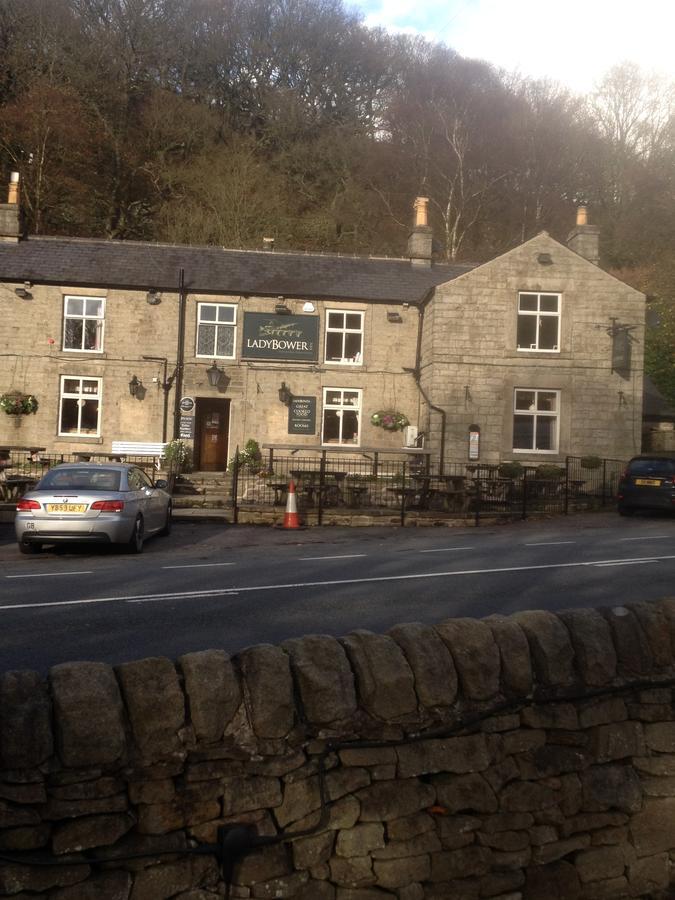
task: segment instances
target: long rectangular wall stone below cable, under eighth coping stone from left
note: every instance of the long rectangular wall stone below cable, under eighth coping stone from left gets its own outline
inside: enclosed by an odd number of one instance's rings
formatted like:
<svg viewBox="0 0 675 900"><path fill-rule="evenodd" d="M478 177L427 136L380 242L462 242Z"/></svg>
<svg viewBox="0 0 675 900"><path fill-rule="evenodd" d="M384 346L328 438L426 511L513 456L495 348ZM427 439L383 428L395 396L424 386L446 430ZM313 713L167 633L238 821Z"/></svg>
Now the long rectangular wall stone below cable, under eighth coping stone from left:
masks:
<svg viewBox="0 0 675 900"><path fill-rule="evenodd" d="M481 772L490 764L485 735L429 739L396 748L398 775L411 778L432 772Z"/></svg>

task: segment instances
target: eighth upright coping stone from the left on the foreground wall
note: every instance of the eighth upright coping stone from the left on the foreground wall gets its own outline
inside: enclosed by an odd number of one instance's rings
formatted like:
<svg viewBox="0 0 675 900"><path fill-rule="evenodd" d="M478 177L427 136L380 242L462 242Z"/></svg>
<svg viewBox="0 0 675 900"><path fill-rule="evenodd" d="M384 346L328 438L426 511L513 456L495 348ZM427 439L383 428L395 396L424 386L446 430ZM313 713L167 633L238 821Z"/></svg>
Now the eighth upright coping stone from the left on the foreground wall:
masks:
<svg viewBox="0 0 675 900"><path fill-rule="evenodd" d="M422 706L450 706L457 698L457 672L437 631L419 622L397 625L388 632L405 654L415 676Z"/></svg>

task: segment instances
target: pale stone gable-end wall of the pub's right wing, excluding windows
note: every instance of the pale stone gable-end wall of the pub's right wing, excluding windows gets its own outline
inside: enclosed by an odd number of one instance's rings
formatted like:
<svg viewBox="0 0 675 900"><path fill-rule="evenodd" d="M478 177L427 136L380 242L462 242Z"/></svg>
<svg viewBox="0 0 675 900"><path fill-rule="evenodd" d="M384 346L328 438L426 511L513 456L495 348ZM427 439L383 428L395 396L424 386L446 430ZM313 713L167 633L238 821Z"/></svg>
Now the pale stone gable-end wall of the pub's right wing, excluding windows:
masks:
<svg viewBox="0 0 675 900"><path fill-rule="evenodd" d="M561 294L559 352L516 349L520 291ZM639 453L644 319L644 295L546 234L437 288L425 316L423 384L448 411L448 458L466 455L470 424L481 428L485 462ZM613 323L630 329L629 372L612 371ZM557 454L514 452L515 388L560 391ZM433 446L439 427L433 418Z"/></svg>

